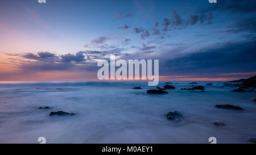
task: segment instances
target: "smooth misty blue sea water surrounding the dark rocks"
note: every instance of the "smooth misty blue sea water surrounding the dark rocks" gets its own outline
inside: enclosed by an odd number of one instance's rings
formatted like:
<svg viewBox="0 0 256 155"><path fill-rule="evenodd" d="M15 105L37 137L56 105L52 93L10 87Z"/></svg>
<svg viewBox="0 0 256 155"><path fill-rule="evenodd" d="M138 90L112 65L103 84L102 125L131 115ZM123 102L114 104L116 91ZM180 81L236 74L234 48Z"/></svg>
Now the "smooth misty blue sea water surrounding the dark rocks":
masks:
<svg viewBox="0 0 256 155"><path fill-rule="evenodd" d="M2 82L0 143L38 143L38 137L47 143L209 143L209 137L250 143L256 137L254 92L232 92L236 87L221 87L223 82L197 82L205 93L180 90L189 83L174 81L168 94L149 95L146 90L155 87L147 82ZM132 89L137 86L142 89ZM45 106L51 109L39 109ZM49 116L51 111L76 115ZM183 121L168 120L169 111L179 111Z"/></svg>

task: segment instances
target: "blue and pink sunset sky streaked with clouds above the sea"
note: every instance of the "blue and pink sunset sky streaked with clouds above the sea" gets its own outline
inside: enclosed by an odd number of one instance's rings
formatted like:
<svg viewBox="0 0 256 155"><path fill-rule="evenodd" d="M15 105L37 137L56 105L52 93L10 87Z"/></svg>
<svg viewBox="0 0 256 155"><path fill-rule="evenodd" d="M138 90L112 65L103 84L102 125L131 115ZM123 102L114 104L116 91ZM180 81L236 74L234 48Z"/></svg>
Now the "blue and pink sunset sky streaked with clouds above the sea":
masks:
<svg viewBox="0 0 256 155"><path fill-rule="evenodd" d="M159 60L160 80L256 75L256 1L1 0L0 81L97 80L97 61Z"/></svg>

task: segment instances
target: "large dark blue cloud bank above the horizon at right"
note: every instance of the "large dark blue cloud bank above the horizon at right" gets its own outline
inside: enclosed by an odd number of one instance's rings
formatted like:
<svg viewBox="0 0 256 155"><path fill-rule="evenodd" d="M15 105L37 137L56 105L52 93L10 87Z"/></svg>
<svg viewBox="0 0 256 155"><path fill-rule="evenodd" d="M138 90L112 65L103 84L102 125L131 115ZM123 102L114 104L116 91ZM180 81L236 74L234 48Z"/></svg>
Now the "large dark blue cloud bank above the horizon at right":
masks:
<svg viewBox="0 0 256 155"><path fill-rule="evenodd" d="M189 53L166 61L166 72L229 73L256 70L256 42L229 43L221 48Z"/></svg>

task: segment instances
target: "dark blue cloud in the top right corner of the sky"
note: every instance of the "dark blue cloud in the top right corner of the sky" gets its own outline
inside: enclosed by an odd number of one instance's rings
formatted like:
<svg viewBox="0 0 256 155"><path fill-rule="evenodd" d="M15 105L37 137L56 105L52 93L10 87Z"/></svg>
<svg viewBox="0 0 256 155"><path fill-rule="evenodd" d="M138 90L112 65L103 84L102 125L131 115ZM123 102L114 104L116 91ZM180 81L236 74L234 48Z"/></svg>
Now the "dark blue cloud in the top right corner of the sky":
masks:
<svg viewBox="0 0 256 155"><path fill-rule="evenodd" d="M217 1L217 3L211 3L210 7L207 9L201 9L200 12L208 11L231 11L231 12L241 12L250 13L256 11L256 1L255 0L225 0Z"/></svg>

